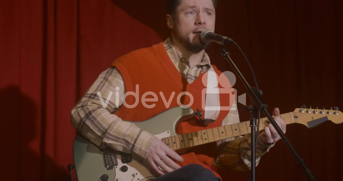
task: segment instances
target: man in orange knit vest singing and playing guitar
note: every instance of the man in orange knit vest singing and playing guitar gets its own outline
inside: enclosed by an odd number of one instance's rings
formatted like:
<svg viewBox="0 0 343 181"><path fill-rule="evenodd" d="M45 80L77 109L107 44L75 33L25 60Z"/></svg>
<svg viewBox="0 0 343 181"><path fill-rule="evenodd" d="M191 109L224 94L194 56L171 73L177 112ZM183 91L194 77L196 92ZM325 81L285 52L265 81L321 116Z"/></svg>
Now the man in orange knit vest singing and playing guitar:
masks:
<svg viewBox="0 0 343 181"><path fill-rule="evenodd" d="M163 94L167 99L173 93L177 95L189 92L194 96L190 107L193 110L199 108L206 116L206 111L201 109L200 95L205 88L201 79L210 69L218 75L221 72L210 64L210 59L204 51L208 45L201 42L200 33L203 29L214 31L216 3L216 0L168 0L166 19L167 26L171 29L170 38L163 43L118 58L110 68L100 74L72 110L71 121L80 134L99 147L109 146L122 152L137 154L162 175L154 179L156 181L220 180L220 176L210 168L212 163L222 168L248 170L251 166L250 134L221 144L218 152L214 142L191 148L178 155L154 135L140 130L132 123L122 121L143 121L176 107L179 103L187 105L191 102L190 96L182 97L181 102L174 96L170 100L159 99L153 102L154 108L147 108L142 102L135 104L137 98L140 100L145 92L161 96ZM124 93L137 92L137 89L139 97L128 96L122 99ZM115 99L111 98L106 108L103 108L98 95L104 96L103 99L106 100L110 91L119 95ZM229 102L225 95L218 98L221 106L225 105L224 102ZM165 106L164 101L168 101L169 106ZM279 113L279 109L274 109L274 115ZM180 123L177 127L178 134L239 122L237 109L220 110L213 115L215 121L207 125L199 125L198 117ZM285 132L284 121L281 118L275 120ZM280 136L269 124L258 137L257 163L277 140L280 140Z"/></svg>

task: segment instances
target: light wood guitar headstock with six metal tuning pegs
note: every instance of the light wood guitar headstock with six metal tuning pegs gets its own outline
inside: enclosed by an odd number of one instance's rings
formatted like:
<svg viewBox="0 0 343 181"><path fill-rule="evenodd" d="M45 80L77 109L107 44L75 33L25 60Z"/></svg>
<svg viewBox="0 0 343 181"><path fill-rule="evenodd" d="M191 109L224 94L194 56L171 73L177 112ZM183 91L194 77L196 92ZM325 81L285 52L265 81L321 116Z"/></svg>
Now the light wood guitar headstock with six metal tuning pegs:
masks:
<svg viewBox="0 0 343 181"><path fill-rule="evenodd" d="M330 109L318 109L318 106L315 109L312 109L310 106L301 106L301 108L296 108L292 112L292 120L294 123L304 124L308 128L313 128L316 125L319 125L325 121L332 121L335 124L340 124L343 122L343 113L339 111L338 107Z"/></svg>

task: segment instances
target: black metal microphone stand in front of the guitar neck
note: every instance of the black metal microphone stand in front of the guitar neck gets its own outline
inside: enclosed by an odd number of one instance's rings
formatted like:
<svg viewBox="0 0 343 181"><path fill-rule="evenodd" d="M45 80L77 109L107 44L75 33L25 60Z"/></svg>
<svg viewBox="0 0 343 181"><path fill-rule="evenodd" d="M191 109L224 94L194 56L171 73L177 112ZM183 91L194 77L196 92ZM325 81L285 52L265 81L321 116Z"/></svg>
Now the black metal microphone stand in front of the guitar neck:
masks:
<svg viewBox="0 0 343 181"><path fill-rule="evenodd" d="M282 132L279 125L275 122L273 117L267 111L268 106L263 101L259 90L257 90L257 88L255 88L255 87L251 87L249 85L249 83L247 82L247 80L245 79L243 74L239 71L236 64L231 59L230 53L226 50L226 47L225 47L226 42L223 41L223 44L220 44L220 45L221 45L222 56L224 57L224 59L226 59L229 62L229 64L232 66L232 68L235 70L235 72L239 76L240 80L243 82L244 86L247 88L247 90L248 90L247 94L249 95L251 102L252 102L252 106L248 107L248 110L250 110L250 112L251 112L251 114L250 114L250 127L251 127L251 174L252 174L252 176L250 177L250 181L255 181L255 177L256 177L256 172L255 172L255 169L256 169L256 147L255 147L255 143L257 141L257 137L255 135L255 132L256 132L256 127L257 127L256 115L259 111L263 111L265 116L268 118L269 122L274 126L277 133L279 133L279 135L282 138L282 140L284 141L284 143L287 145L289 150L291 150L291 152L295 156L298 164L304 169L307 179L309 181L318 181L318 179L311 172L311 170L309 170L306 167L304 160L298 155L298 153L295 151L294 147L291 145L291 143L289 142L289 140L287 139L285 134Z"/></svg>

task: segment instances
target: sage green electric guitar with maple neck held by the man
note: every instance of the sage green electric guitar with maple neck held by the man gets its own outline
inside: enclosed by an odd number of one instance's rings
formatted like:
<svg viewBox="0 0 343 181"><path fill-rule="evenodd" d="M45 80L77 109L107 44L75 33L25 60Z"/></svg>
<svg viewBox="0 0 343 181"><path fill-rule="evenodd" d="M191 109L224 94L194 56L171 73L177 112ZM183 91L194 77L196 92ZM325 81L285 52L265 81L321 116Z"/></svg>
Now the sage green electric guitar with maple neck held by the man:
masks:
<svg viewBox="0 0 343 181"><path fill-rule="evenodd" d="M132 123L157 136L172 150L186 149L250 133L250 122L245 121L178 135L177 124L193 116L194 111L191 108L174 107L149 120ZM286 124L299 123L313 128L328 120L340 124L343 113L337 107L334 110L302 107L296 108L293 112L280 114L280 117ZM261 119L259 130L263 130L268 125L267 120L267 118ZM114 149L100 150L79 134L74 140L73 156L78 181L147 181L156 177L142 160Z"/></svg>

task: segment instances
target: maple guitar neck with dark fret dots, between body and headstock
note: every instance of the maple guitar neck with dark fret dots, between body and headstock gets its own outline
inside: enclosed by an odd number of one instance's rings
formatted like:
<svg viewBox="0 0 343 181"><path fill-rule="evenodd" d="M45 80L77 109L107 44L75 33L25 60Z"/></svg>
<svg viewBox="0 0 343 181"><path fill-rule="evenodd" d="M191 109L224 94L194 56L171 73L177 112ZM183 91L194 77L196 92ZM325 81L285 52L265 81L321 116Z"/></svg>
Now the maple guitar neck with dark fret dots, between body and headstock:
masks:
<svg viewBox="0 0 343 181"><path fill-rule="evenodd" d="M273 116L274 118L276 116ZM277 117L281 117L286 124L294 123L294 115L292 112L280 114ZM264 130L265 126L268 125L268 118L260 119L259 130ZM180 134L176 136L170 136L162 139L162 142L169 146L170 149L178 150L188 148L192 146L198 146L214 141L224 140L240 135L250 133L250 121L239 122L235 124L229 124L220 126L212 129L206 129L196 131L192 133Z"/></svg>

